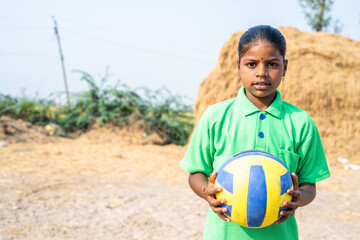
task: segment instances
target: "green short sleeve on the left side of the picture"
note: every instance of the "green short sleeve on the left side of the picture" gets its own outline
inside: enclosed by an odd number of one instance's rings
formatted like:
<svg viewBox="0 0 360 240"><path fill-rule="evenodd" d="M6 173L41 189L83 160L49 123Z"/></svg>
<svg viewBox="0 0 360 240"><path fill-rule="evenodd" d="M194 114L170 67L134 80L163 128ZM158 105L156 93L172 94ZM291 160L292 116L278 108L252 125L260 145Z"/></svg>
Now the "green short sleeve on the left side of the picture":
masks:
<svg viewBox="0 0 360 240"><path fill-rule="evenodd" d="M189 173L202 172L209 176L213 171L214 144L211 137L210 111L207 109L195 127L180 167Z"/></svg>

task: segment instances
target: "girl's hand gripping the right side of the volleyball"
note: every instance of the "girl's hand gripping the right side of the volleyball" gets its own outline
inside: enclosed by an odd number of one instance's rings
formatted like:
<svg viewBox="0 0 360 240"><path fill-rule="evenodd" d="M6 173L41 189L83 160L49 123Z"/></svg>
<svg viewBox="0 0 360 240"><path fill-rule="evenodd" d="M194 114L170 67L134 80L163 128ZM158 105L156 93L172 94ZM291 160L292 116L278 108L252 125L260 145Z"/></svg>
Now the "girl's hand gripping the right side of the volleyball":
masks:
<svg viewBox="0 0 360 240"><path fill-rule="evenodd" d="M294 215L296 209L299 207L300 205L300 199L302 197L302 193L299 189L299 181L298 181L298 177L296 176L295 173L291 174L291 178L293 181L293 189L288 189L287 190L287 194L291 195L293 197L291 202L284 202L283 205L288 207L288 210L285 211L281 211L280 215L282 216L279 220L277 220L275 223L279 224L282 223L284 221L286 221L290 216Z"/></svg>

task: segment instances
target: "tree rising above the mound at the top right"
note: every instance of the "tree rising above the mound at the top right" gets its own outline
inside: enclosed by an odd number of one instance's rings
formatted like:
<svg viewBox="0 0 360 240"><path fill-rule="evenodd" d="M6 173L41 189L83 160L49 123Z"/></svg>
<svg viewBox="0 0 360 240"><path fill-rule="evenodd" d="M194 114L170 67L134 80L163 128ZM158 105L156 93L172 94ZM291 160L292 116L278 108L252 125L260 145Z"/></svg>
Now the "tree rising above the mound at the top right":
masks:
<svg viewBox="0 0 360 240"><path fill-rule="evenodd" d="M317 32L326 31L331 23L329 12L334 4L333 0L299 0L304 9L305 18L311 28ZM339 24L339 23L338 23ZM337 29L337 31L341 29Z"/></svg>

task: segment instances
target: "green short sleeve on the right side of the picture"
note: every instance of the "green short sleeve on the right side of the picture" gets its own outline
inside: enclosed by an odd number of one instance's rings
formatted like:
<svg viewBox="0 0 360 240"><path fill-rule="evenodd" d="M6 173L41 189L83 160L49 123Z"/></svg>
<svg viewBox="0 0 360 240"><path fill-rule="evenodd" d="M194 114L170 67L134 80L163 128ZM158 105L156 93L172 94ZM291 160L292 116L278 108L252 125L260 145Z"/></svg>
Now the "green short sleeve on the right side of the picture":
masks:
<svg viewBox="0 0 360 240"><path fill-rule="evenodd" d="M300 143L298 148L300 159L296 174L299 183L316 183L330 177L320 135L310 116L305 125L303 136L304 141Z"/></svg>

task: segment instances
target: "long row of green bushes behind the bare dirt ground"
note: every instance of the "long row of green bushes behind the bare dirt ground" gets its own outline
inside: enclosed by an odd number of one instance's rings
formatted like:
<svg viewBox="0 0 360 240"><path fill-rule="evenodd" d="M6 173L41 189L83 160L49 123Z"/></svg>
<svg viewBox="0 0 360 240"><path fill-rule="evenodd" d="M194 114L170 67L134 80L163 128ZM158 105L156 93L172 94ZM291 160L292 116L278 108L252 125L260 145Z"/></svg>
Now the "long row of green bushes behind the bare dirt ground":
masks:
<svg viewBox="0 0 360 240"><path fill-rule="evenodd" d="M32 124L55 123L71 136L84 132L94 123L124 126L136 121L145 122L148 134L156 132L165 143L185 145L193 128L192 107L183 98L173 96L166 88L156 91L147 88L130 89L117 82L105 86L110 75L106 71L100 83L90 74L81 74L89 90L72 94L71 106L56 106L53 100L29 100L0 94L0 116L21 118Z"/></svg>

